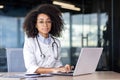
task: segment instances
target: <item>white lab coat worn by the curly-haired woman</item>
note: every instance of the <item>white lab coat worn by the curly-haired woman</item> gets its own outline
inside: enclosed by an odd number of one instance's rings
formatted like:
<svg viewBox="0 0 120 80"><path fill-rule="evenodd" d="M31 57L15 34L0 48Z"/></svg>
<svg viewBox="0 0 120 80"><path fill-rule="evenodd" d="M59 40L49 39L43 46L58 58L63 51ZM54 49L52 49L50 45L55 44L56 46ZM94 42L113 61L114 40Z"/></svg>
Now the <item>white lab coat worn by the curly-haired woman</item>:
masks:
<svg viewBox="0 0 120 80"><path fill-rule="evenodd" d="M39 41L42 53L45 55L45 58L43 58L41 57L37 39L25 38L23 56L27 73L34 73L39 67L51 68L62 66L62 63L60 61L60 41L55 38L55 42L58 45L57 49L56 44L54 44L55 51L53 51L52 48L53 42L53 38L51 38L50 45L46 45Z"/></svg>

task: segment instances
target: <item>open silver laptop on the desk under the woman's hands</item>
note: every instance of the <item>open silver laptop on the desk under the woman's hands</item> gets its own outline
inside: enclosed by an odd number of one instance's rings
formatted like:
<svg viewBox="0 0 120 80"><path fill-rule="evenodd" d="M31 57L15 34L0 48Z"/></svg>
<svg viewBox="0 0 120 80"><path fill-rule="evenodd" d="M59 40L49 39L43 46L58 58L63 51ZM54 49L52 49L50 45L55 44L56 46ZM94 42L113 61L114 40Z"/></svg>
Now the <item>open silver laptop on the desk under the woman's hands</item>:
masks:
<svg viewBox="0 0 120 80"><path fill-rule="evenodd" d="M101 57L102 50L103 48L82 48L73 72L59 72L53 74L61 76L79 76L94 73Z"/></svg>

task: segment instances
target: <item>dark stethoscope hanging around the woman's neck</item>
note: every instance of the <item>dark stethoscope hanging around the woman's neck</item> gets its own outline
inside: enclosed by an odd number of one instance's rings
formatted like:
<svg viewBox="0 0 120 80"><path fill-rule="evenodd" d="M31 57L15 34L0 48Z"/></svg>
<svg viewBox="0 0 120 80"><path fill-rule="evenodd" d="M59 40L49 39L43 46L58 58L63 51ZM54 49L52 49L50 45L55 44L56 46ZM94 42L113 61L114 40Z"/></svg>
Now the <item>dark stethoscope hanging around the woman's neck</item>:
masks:
<svg viewBox="0 0 120 80"><path fill-rule="evenodd" d="M52 43L52 50L53 50L53 52L54 52L54 54L55 54L55 45L56 45L56 47L57 47L57 54L58 54L58 44L55 42L55 39L54 39L54 37L52 37L51 36L51 38L53 39L53 43ZM41 58L43 58L43 59L45 59L45 54L43 54L43 52L42 52L42 50L41 50L41 46L40 46L40 43L39 43L39 41L38 41L38 38L37 38L37 36L36 36L36 40L37 40L37 44L38 44L38 47L39 47L39 51L40 51L40 53L41 53L41 55L40 55L40 57ZM56 54L56 55L57 55ZM55 57L55 60L57 60L58 59L58 55Z"/></svg>

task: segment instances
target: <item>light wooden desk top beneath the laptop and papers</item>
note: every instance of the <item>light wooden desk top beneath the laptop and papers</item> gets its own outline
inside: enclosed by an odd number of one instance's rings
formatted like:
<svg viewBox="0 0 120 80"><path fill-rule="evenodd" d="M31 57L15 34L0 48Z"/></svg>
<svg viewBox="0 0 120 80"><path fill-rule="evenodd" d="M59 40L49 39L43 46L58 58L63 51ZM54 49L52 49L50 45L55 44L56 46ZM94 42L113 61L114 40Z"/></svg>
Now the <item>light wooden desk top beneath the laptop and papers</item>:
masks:
<svg viewBox="0 0 120 80"><path fill-rule="evenodd" d="M1 73L2 75L14 75L21 73ZM52 77L39 77L39 78L2 78L0 80L120 80L120 73L112 71L98 71L92 74L81 76L52 76Z"/></svg>

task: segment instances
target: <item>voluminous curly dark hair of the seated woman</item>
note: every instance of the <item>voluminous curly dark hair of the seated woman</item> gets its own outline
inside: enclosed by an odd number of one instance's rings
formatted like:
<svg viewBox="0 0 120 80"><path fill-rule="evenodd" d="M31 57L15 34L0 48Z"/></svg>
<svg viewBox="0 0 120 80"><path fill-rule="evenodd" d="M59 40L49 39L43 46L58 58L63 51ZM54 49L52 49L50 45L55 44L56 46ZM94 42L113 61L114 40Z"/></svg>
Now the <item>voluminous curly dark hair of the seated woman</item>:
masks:
<svg viewBox="0 0 120 80"><path fill-rule="evenodd" d="M34 38L36 35L38 35L36 22L37 16L41 13L48 15L52 20L52 27L49 33L55 37L60 37L64 28L64 22L61 11L52 4L41 4L27 14L23 24L23 30L26 32L27 36Z"/></svg>

